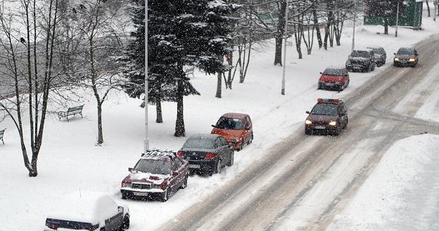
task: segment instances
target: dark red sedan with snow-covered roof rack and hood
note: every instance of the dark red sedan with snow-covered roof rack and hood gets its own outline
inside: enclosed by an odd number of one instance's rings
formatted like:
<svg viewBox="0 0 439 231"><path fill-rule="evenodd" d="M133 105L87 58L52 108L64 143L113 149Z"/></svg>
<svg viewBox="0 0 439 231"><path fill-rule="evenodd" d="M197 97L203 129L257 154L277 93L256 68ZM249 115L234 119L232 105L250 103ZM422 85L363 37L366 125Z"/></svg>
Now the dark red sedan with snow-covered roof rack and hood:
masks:
<svg viewBox="0 0 439 231"><path fill-rule="evenodd" d="M150 150L128 171L120 187L122 199L159 197L166 202L179 188L187 186L189 162L175 152Z"/></svg>

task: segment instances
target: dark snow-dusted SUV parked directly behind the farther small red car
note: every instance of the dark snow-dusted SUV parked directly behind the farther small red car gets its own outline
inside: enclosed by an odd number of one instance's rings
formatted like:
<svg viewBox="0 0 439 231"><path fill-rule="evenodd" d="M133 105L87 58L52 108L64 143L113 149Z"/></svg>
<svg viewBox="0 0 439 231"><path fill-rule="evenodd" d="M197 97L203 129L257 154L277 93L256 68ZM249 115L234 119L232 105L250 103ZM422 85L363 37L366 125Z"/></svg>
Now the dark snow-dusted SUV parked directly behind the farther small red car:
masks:
<svg viewBox="0 0 439 231"><path fill-rule="evenodd" d="M350 72L371 72L375 70L375 55L371 49L354 50L346 60L346 70Z"/></svg>

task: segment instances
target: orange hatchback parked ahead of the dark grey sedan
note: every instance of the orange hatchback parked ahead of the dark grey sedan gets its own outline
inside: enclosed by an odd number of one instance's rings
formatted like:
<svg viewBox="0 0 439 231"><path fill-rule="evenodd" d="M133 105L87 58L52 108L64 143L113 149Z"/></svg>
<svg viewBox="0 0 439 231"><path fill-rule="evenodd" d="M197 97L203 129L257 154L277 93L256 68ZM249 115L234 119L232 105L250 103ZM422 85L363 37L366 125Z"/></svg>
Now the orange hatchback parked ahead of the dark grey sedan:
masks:
<svg viewBox="0 0 439 231"><path fill-rule="evenodd" d="M244 144L249 145L253 142L253 125L248 114L223 114L212 127L210 133L226 138L227 142L233 145L234 150L239 151Z"/></svg>

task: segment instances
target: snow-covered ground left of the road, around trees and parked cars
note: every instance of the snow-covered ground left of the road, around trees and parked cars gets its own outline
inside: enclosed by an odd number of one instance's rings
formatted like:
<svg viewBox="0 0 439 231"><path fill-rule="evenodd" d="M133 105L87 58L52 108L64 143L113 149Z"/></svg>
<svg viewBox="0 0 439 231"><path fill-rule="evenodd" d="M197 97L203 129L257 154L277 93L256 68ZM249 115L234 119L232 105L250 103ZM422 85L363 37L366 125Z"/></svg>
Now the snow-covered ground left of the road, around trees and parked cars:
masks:
<svg viewBox="0 0 439 231"><path fill-rule="evenodd" d="M393 34L376 34L382 32L383 27L360 26L357 27L356 46L383 46L388 53L389 62L385 66L391 65L392 54L397 48L415 44L439 32L438 25L433 23L432 18L424 18L423 27L424 30L421 31L400 28L398 38L395 38ZM320 71L331 65L344 65L351 46L350 32L351 29L346 27L342 46L329 48L329 51L319 51L314 44L312 55L304 55L303 60L298 60L297 53L292 47L288 47L286 95L280 94L282 67L272 65L272 41L260 46L259 52L253 52L246 82L235 82L233 90L224 89L221 99L215 98L216 78L205 77L203 73L196 72L192 83L201 95L185 98L186 135L209 133L210 124L215 124L226 112L245 112L253 120L254 143L241 152L236 152L234 166L225 169L221 175L191 177L188 187L177 192L166 203L127 201L132 213L132 227L129 230L145 230L146 227L152 230L191 204L208 197L228 180L233 180L234 176L250 166L255 159L262 157L264 150L303 126L305 110L314 105L316 98L343 98L343 95L355 91L376 72L383 70L383 67L379 67L371 73L350 74L350 86L342 93L317 91ZM390 33L393 33L393 29L390 29ZM84 93L84 96L87 98L84 119L72 119L69 123L49 117L39 156L37 178L27 177L18 133L12 121L6 120L0 124L0 129L7 128L6 144L0 145L0 182L3 189L0 194L0 230L42 230L46 214L50 213L56 201L75 190L108 192L122 202L118 192L120 181L127 175L127 168L139 159L142 151L144 110L138 107L140 100L127 98L122 93L113 93L103 106L105 145L97 147L94 145L96 103L91 93ZM437 97L438 95L436 99ZM435 100L435 108L438 105L438 100ZM163 124L155 124L154 107L149 107L149 110L151 147L177 150L185 138L172 136L176 105L164 103ZM424 113L428 115L429 112ZM434 136L424 137L437 140ZM439 146L437 142L430 143L435 144L435 147ZM407 155L409 157L412 156Z"/></svg>

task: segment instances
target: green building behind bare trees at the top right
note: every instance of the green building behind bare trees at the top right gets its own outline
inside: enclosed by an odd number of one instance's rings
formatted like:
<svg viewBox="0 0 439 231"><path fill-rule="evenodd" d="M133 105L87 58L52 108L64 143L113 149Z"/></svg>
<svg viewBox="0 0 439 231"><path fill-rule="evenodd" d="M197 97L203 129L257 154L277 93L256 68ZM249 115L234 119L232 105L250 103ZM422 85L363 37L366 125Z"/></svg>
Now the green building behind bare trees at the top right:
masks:
<svg viewBox="0 0 439 231"><path fill-rule="evenodd" d="M422 0L405 0L405 11L400 13L398 26L421 28ZM388 19L389 26L396 25L396 13ZM370 15L368 6L364 6L364 25L384 25L383 18Z"/></svg>

